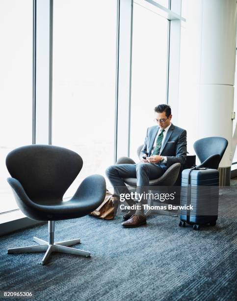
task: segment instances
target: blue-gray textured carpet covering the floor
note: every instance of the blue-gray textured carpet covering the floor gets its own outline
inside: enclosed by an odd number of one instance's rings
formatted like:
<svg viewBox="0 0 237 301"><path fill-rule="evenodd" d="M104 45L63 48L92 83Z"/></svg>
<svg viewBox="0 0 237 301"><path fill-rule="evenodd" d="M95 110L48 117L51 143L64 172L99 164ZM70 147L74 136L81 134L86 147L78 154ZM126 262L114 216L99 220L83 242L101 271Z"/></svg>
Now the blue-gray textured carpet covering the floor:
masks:
<svg viewBox="0 0 237 301"><path fill-rule="evenodd" d="M120 216L55 222L55 240L80 238L75 247L91 251L91 258L53 253L42 266L43 253L7 254L36 244L33 236L47 240L47 225L2 236L0 291L30 291L27 300L40 301L237 300L236 190L221 197L216 226L201 231L165 215L132 229L121 227Z"/></svg>

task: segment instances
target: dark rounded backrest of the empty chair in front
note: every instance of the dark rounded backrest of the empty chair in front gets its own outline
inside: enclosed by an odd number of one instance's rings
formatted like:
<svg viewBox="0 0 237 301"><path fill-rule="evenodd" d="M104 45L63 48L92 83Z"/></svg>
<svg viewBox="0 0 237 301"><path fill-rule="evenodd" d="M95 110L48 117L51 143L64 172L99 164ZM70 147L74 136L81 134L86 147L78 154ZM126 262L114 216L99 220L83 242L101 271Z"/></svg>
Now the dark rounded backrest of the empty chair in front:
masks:
<svg viewBox="0 0 237 301"><path fill-rule="evenodd" d="M79 154L52 145L29 145L6 157L12 178L20 181L31 200L62 198L83 165Z"/></svg>

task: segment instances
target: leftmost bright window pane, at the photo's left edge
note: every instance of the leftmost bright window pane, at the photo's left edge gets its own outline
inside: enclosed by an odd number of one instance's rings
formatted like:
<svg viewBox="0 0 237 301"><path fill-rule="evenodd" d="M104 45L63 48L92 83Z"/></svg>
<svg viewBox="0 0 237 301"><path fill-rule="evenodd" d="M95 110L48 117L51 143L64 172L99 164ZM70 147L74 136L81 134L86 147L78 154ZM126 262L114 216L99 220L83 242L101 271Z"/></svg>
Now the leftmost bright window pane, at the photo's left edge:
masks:
<svg viewBox="0 0 237 301"><path fill-rule="evenodd" d="M0 1L0 213L17 209L5 157L32 143L32 5Z"/></svg>

